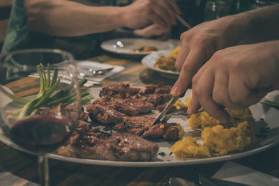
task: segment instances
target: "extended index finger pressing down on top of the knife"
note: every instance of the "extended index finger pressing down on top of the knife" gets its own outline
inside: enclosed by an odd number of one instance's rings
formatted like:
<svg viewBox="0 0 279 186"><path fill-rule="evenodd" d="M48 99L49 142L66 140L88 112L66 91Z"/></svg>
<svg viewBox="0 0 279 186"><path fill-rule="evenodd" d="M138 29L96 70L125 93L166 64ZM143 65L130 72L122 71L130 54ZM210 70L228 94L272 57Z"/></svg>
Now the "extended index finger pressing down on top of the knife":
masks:
<svg viewBox="0 0 279 186"><path fill-rule="evenodd" d="M193 50L187 56L185 63L181 68L179 79L172 87L172 95L178 96L181 95L188 88L190 82L192 81L193 76L205 62L206 58L202 55L202 51Z"/></svg>

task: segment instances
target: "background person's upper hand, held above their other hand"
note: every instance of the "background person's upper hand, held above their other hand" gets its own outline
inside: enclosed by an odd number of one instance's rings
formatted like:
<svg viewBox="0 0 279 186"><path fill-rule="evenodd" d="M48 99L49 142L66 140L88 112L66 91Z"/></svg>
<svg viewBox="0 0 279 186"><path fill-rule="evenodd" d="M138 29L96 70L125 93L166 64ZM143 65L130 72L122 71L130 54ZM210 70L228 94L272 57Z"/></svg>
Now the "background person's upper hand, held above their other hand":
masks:
<svg viewBox="0 0 279 186"><path fill-rule="evenodd" d="M181 13L172 0L137 0L123 8L123 20L130 29L155 23L168 31L172 24L176 24L174 13Z"/></svg>

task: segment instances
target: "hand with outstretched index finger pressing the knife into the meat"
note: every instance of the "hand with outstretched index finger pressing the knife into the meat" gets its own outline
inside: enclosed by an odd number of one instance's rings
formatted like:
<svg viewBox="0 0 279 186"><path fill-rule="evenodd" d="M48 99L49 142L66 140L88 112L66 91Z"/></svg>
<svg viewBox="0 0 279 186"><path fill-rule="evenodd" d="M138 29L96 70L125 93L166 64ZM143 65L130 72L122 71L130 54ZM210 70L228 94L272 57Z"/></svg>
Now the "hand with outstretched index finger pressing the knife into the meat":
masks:
<svg viewBox="0 0 279 186"><path fill-rule="evenodd" d="M219 49L238 45L247 31L246 17L233 15L204 22L181 34L181 49L176 59L179 79L172 95L181 95L199 68Z"/></svg>

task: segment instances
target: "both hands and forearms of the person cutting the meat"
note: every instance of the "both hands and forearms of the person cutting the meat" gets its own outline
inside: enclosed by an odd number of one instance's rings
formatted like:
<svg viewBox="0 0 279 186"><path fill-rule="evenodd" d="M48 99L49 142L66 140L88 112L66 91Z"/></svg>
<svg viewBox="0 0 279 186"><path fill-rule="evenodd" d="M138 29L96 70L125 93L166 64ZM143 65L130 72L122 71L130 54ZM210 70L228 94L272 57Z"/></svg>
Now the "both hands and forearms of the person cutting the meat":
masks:
<svg viewBox="0 0 279 186"><path fill-rule="evenodd" d="M224 107L241 109L279 89L279 4L199 24L181 34L179 79L172 95L192 82L188 113L203 107L222 123Z"/></svg>

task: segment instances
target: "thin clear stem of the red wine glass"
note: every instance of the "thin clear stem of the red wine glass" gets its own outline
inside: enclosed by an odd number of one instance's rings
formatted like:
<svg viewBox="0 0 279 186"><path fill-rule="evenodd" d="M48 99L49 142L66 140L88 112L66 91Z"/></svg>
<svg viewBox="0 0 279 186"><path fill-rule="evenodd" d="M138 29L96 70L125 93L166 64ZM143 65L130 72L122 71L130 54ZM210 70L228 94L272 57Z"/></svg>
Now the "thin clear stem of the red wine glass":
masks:
<svg viewBox="0 0 279 186"><path fill-rule="evenodd" d="M45 156L45 153L38 154L38 173L40 178L40 185L49 186L50 175L49 175L48 159Z"/></svg>

